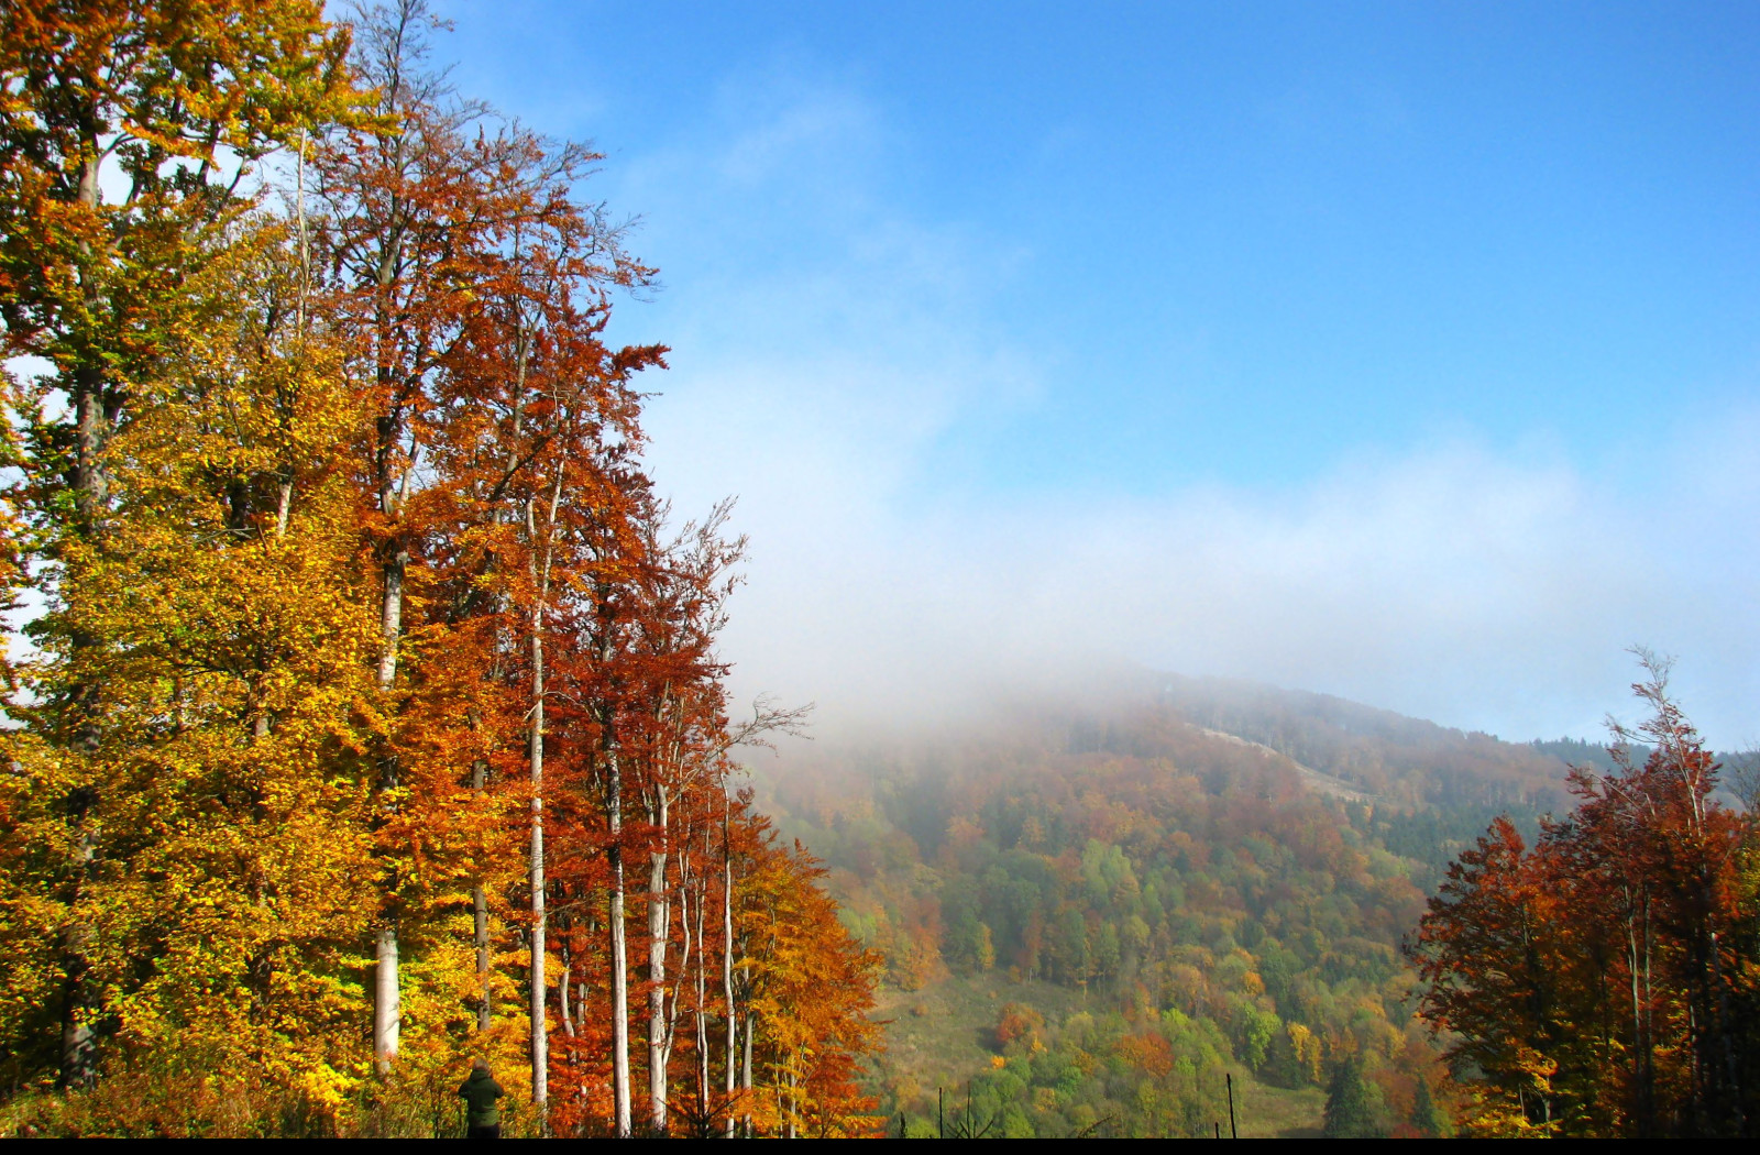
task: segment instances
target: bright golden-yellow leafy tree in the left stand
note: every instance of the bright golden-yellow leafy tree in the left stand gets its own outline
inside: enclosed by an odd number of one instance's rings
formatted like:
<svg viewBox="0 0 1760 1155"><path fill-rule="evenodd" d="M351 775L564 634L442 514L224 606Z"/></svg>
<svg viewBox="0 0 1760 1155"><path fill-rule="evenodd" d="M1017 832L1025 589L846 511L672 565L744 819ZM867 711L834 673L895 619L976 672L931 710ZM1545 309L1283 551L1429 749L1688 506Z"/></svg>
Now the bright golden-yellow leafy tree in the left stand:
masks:
<svg viewBox="0 0 1760 1155"><path fill-rule="evenodd" d="M354 400L294 333L287 254L264 224L194 280L169 384L139 387L113 438L104 548L67 553L83 597L62 613L106 643L86 657L109 829L90 974L118 1041L334 1107L364 898L345 771L371 636L336 454Z"/></svg>

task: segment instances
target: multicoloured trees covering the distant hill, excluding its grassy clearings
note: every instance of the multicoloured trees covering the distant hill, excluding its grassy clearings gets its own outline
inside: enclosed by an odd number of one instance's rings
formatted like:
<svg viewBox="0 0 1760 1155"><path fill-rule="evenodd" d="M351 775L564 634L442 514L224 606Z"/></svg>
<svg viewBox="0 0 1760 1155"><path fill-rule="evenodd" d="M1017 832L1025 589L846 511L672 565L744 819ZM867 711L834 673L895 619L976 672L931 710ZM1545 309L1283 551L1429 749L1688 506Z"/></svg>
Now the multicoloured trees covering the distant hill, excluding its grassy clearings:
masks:
<svg viewBox="0 0 1760 1155"><path fill-rule="evenodd" d="M1230 1072L1308 1102L1346 1063L1371 1088L1350 1127L1445 1127L1399 953L1441 863L1389 850L1406 808L1316 794L1165 706L824 747L769 791L892 982L1016 991L970 1078L979 1129L1209 1136ZM894 1130L931 1127L929 1078L878 1067Z"/></svg>

